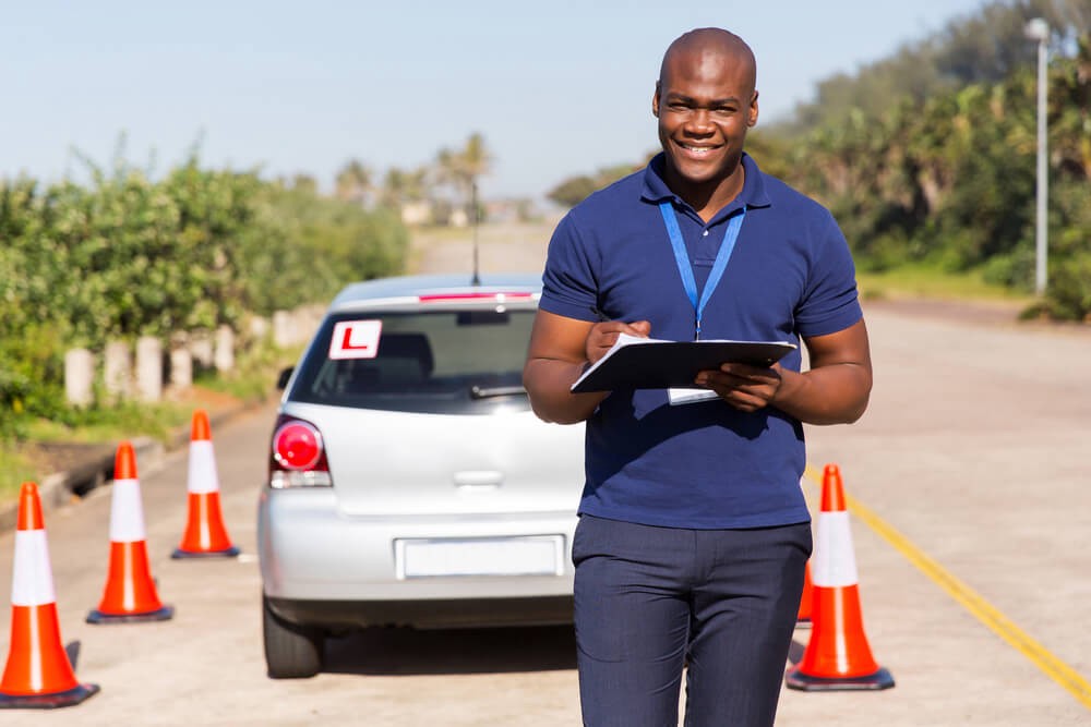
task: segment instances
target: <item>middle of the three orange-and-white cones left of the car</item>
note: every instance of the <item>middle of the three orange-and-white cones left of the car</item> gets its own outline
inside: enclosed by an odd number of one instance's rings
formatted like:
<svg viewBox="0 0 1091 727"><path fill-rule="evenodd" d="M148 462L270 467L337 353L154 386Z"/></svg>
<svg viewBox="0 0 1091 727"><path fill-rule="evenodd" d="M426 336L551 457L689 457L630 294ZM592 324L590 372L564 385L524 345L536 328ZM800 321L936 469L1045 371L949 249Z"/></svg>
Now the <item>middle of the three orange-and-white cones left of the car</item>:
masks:
<svg viewBox="0 0 1091 727"><path fill-rule="evenodd" d="M113 459L110 568L103 601L87 614L88 623L165 621L175 615L173 607L164 606L155 591L145 538L136 455L130 443L122 441Z"/></svg>

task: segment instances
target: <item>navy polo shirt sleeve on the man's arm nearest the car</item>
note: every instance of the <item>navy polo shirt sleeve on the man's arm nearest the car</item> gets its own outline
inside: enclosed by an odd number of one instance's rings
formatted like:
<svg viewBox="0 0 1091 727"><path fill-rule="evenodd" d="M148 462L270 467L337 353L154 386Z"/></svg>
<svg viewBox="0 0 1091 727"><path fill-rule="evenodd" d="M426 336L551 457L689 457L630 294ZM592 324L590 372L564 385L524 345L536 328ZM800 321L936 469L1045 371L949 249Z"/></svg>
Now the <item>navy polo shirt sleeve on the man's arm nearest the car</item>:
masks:
<svg viewBox="0 0 1091 727"><path fill-rule="evenodd" d="M567 318L596 320L591 307L598 304L598 284L591 259L574 211L570 211L550 239L538 307Z"/></svg>

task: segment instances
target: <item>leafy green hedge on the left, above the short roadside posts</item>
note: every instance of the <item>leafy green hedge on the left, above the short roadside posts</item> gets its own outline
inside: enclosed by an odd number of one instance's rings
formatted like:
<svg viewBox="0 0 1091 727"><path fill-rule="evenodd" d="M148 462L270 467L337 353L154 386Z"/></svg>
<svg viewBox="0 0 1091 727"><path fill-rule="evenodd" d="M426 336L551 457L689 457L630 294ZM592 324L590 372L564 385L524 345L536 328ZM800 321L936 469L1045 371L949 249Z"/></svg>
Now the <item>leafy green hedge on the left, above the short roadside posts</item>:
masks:
<svg viewBox="0 0 1091 727"><path fill-rule="evenodd" d="M84 185L0 180L0 437L17 436L22 417L74 415L69 348L239 329L247 313L404 271L408 232L386 210L196 158L160 181L124 163L88 170Z"/></svg>

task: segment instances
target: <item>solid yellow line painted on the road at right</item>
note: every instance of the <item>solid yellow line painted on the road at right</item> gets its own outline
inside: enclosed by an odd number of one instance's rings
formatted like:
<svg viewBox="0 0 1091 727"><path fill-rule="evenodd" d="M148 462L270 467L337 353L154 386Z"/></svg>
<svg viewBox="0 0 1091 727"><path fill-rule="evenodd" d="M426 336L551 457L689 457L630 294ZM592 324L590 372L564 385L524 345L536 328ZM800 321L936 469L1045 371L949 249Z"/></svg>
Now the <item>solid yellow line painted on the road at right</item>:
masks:
<svg viewBox="0 0 1091 727"><path fill-rule="evenodd" d="M822 486L822 474L810 465L804 473L813 483ZM946 591L955 601L973 614L974 617L1002 639L1011 644L1016 651L1029 658L1051 679L1067 689L1083 706L1091 708L1091 683L1070 666L1051 654L1045 646L1034 641L1027 632L1011 622L1004 614L993 607L973 589L961 582L946 568L924 555L904 535L891 528L885 520L875 514L855 498L846 495L849 512L860 518L864 524L886 540L907 560L916 566L939 587Z"/></svg>

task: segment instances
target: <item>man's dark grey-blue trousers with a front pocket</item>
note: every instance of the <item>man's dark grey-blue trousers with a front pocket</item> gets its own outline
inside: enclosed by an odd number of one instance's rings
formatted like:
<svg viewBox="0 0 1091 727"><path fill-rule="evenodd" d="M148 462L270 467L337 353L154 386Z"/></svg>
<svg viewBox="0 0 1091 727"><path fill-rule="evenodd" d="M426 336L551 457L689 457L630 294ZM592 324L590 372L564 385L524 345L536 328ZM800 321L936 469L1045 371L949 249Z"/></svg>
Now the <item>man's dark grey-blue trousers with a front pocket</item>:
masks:
<svg viewBox="0 0 1091 727"><path fill-rule="evenodd" d="M572 557L587 727L769 727L811 525L652 528L583 516Z"/></svg>

